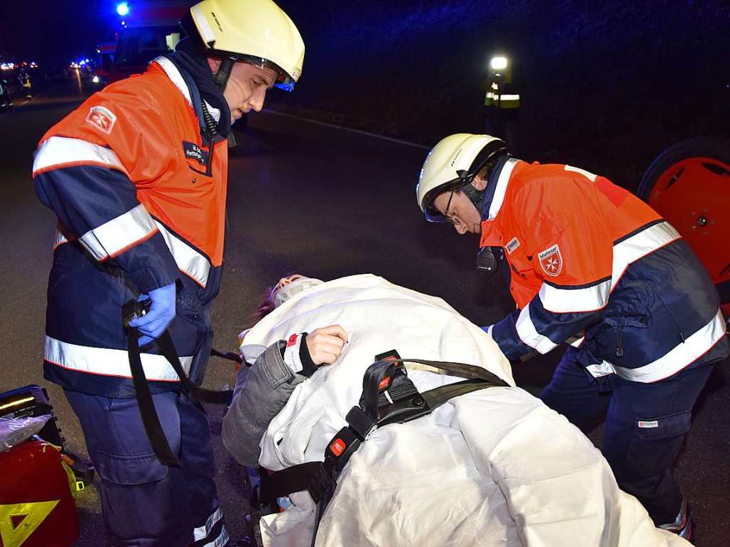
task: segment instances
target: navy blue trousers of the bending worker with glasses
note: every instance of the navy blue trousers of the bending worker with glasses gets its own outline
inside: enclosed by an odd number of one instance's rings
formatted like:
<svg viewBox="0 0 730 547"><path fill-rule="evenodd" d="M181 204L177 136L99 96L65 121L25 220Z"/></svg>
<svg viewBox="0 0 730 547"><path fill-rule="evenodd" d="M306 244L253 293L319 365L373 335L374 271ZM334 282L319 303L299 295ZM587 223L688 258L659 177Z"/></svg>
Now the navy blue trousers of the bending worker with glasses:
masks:
<svg viewBox="0 0 730 547"><path fill-rule="evenodd" d="M657 526L674 522L683 497L671 466L714 365L653 384L615 377L610 392L599 392L576 356L575 348L566 351L540 398L584 431L605 414L601 450L618 485L637 497Z"/></svg>

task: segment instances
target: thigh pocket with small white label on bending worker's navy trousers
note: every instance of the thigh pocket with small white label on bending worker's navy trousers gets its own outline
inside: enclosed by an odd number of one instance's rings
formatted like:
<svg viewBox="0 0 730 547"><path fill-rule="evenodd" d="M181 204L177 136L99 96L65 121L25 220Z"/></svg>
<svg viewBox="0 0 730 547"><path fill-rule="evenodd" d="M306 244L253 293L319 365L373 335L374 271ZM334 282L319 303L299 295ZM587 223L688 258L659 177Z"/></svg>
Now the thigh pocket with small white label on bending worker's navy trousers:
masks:
<svg viewBox="0 0 730 547"><path fill-rule="evenodd" d="M626 453L626 470L637 476L664 473L679 454L691 422L691 410L634 419Z"/></svg>

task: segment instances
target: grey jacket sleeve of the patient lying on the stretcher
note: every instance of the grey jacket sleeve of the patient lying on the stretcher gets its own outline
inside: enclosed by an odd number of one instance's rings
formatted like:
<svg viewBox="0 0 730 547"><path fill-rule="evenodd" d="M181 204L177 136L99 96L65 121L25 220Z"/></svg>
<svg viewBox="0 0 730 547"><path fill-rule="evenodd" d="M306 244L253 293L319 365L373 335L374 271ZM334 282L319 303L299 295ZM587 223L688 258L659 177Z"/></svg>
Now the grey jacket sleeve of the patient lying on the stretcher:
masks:
<svg viewBox="0 0 730 547"><path fill-rule="evenodd" d="M285 343L269 346L251 368L241 367L233 401L223 418L223 446L242 465L258 466L258 444L291 392L305 377L295 374L282 357Z"/></svg>

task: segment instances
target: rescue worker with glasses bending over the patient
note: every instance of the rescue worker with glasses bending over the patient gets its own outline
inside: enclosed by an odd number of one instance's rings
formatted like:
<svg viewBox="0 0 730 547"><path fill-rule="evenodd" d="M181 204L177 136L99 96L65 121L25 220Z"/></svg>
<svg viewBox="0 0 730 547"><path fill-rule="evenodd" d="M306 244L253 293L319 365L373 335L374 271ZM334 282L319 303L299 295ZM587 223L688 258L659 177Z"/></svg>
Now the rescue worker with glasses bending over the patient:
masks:
<svg viewBox="0 0 730 547"><path fill-rule="evenodd" d="M481 234L479 262L509 276L518 309L485 330L510 360L573 340L542 400L578 427L607 413L602 451L618 483L690 538L670 466L729 343L679 233L608 179L512 158L488 135L439 141L416 193L427 220Z"/></svg>

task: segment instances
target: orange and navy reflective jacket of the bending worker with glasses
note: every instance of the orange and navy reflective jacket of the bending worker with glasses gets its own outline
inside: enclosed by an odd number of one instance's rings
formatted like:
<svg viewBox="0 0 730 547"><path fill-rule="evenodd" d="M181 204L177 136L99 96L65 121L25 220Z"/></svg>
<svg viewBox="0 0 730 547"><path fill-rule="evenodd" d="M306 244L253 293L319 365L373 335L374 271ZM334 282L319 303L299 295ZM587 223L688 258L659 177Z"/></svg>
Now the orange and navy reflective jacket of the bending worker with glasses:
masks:
<svg viewBox="0 0 730 547"><path fill-rule="evenodd" d="M707 273L639 198L580 168L515 159L487 193L481 245L504 249L518 304L490 329L510 359L584 334L591 376L651 382L729 353Z"/></svg>

